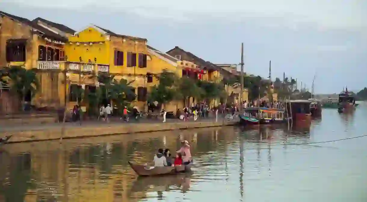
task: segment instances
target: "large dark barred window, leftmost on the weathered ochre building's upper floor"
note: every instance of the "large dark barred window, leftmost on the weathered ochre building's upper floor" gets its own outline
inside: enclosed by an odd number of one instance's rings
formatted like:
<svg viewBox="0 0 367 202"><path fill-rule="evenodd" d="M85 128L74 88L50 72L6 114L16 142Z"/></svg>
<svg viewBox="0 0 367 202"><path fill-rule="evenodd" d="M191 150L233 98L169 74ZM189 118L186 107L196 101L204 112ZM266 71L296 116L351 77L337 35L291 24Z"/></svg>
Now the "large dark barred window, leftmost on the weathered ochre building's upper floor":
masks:
<svg viewBox="0 0 367 202"><path fill-rule="evenodd" d="M25 62L25 58L26 58L25 42L8 42L6 44L7 62Z"/></svg>

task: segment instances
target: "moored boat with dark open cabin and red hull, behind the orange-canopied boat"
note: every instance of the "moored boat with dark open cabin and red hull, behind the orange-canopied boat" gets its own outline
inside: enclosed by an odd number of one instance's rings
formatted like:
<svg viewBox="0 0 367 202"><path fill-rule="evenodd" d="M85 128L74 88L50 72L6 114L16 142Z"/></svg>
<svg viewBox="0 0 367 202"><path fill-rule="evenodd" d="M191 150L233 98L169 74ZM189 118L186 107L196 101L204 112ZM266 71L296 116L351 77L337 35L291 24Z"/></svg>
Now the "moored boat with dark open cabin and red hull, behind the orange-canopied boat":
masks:
<svg viewBox="0 0 367 202"><path fill-rule="evenodd" d="M287 112L288 116L294 121L311 120L311 101L309 100L288 100Z"/></svg>

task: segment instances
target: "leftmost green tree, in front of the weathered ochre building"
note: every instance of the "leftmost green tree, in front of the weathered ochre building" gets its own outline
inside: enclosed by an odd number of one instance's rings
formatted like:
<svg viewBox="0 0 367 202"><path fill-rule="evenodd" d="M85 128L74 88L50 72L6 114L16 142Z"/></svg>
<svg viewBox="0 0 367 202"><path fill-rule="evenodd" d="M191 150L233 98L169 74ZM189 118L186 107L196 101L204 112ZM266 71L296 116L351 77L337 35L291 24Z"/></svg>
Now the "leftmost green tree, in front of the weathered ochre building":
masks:
<svg viewBox="0 0 367 202"><path fill-rule="evenodd" d="M25 102L28 93L34 97L40 88L35 69L25 69L22 66L6 67L2 69L1 77L6 76L10 79L11 91L18 95L22 103Z"/></svg>

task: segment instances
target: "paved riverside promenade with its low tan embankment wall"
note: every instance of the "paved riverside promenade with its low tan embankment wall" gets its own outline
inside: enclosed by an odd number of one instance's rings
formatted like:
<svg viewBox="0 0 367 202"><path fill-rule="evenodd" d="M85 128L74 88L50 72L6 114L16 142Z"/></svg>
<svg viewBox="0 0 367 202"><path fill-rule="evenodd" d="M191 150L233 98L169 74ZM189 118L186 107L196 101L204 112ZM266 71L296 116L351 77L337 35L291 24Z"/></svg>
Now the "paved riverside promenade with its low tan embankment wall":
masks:
<svg viewBox="0 0 367 202"><path fill-rule="evenodd" d="M110 122L106 121L85 121L65 123L48 123L43 125L1 125L0 137L12 135L10 143L57 140L61 137L82 138L105 136L110 134L130 134L146 133L154 131L183 130L207 127L219 127L234 125L235 121L224 121L223 118L207 118L193 121L182 121L179 119L167 119L166 123L161 120L143 119L139 121L123 122L120 119L112 118Z"/></svg>

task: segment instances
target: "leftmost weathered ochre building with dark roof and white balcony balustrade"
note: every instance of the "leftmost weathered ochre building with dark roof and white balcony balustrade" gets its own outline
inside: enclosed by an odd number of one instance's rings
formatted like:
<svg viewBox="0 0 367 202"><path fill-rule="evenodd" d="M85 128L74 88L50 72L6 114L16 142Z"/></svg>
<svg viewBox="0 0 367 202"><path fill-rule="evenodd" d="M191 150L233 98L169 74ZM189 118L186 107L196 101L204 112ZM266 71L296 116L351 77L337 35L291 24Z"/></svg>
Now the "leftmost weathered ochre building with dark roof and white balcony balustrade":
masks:
<svg viewBox="0 0 367 202"><path fill-rule="evenodd" d="M59 107L65 97L61 70L64 67L63 46L68 31L58 32L45 25L44 21L41 18L30 21L0 12L0 66L37 69L41 89L33 99L27 93L25 101L36 107Z"/></svg>

